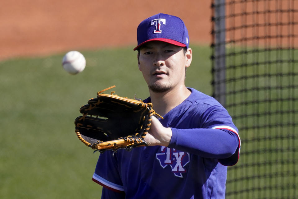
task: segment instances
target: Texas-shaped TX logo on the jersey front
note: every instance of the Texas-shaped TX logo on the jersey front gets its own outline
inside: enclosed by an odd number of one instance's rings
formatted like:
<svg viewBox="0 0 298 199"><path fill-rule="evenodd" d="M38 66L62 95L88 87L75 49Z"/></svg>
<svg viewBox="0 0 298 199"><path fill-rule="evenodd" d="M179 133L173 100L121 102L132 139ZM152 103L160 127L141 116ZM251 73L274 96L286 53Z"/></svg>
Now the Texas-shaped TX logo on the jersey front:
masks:
<svg viewBox="0 0 298 199"><path fill-rule="evenodd" d="M186 173L185 165L189 163L189 153L170 149L161 146L161 153L156 154L156 159L159 161L160 166L165 169L170 165L172 172L176 177L183 178L183 173Z"/></svg>

